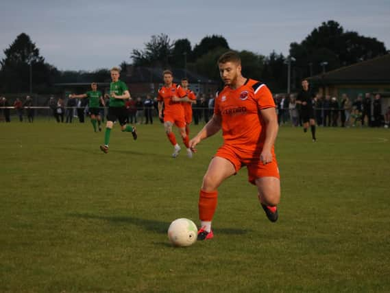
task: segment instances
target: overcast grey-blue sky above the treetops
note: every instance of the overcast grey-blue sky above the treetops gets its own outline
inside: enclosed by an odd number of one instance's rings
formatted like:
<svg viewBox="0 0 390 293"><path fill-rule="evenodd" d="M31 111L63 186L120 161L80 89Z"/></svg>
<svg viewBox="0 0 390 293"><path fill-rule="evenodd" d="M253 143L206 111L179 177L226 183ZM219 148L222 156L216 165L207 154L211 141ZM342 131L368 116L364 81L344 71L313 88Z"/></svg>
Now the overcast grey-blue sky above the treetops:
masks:
<svg viewBox="0 0 390 293"><path fill-rule="evenodd" d="M378 38L390 49L390 0L43 1L1 0L0 58L25 32L61 70L95 70L131 62L154 34L191 45L219 34L232 49L285 56L323 21Z"/></svg>

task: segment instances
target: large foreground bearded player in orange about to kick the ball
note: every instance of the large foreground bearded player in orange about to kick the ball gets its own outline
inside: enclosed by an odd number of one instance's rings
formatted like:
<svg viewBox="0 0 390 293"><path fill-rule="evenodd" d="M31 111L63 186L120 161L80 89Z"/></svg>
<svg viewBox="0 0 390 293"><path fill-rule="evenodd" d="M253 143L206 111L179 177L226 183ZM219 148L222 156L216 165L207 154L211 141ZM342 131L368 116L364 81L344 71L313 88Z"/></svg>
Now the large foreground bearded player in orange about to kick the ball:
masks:
<svg viewBox="0 0 390 293"><path fill-rule="evenodd" d="M217 150L199 192L197 239L211 239L211 221L217 208L217 188L224 180L247 167L249 183L256 185L267 218L278 220L280 176L273 144L278 134L275 103L267 86L241 75L241 59L228 51L218 60L225 87L216 95L214 115L191 139L191 149L222 128L223 145Z"/></svg>

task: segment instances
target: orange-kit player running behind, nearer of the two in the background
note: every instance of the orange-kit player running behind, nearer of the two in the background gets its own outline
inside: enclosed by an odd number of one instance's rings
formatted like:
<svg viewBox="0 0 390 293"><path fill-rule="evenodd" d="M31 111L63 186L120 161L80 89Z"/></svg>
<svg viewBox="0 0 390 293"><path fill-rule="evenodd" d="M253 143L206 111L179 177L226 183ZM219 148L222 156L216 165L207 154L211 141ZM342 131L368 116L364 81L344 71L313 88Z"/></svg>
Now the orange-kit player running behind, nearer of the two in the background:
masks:
<svg viewBox="0 0 390 293"><path fill-rule="evenodd" d="M172 126L175 124L179 128L180 136L187 148L188 158L192 158L193 153L188 145L188 136L186 134L186 121L184 119L184 108L182 102L191 102L186 96L184 89L173 83L173 74L166 70L163 73L164 86L158 91L158 117L162 119L162 106L164 106L164 129L169 141L173 145L172 157L176 158L181 150L176 141L175 134L172 132Z"/></svg>

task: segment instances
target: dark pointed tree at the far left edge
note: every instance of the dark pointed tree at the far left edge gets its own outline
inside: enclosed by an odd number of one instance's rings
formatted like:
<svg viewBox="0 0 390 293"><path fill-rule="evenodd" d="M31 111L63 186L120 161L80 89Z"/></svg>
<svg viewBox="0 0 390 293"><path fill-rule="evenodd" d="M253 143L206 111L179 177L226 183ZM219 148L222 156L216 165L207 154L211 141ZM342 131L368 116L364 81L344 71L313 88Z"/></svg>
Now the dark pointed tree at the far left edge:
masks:
<svg viewBox="0 0 390 293"><path fill-rule="evenodd" d="M28 92L30 66L34 89L42 90L51 86L53 75L58 74L55 67L45 63L45 58L40 56L38 47L25 33L19 34L10 47L4 50L4 54L5 58L0 60L2 91Z"/></svg>

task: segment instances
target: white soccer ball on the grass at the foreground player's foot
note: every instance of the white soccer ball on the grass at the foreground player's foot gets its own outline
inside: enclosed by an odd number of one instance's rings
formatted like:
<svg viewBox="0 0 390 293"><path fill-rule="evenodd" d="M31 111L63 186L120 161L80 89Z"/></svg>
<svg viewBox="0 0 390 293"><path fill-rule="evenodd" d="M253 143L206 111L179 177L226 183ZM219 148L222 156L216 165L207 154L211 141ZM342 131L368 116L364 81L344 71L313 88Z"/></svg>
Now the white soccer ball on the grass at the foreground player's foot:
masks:
<svg viewBox="0 0 390 293"><path fill-rule="evenodd" d="M168 228L168 238L174 246L190 246L197 239L197 226L185 218L174 220Z"/></svg>

